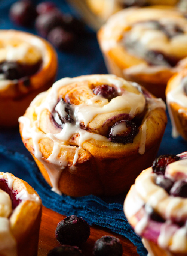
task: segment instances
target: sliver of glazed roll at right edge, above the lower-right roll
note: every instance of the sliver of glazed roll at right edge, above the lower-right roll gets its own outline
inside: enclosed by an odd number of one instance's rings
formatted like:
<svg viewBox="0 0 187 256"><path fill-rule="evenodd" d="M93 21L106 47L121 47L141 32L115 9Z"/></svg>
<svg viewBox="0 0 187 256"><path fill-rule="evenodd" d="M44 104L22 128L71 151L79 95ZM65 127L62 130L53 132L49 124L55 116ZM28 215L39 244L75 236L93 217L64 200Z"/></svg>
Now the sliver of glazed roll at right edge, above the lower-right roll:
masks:
<svg viewBox="0 0 187 256"><path fill-rule="evenodd" d="M168 81L166 102L172 123L172 137L181 135L187 140L187 69Z"/></svg>

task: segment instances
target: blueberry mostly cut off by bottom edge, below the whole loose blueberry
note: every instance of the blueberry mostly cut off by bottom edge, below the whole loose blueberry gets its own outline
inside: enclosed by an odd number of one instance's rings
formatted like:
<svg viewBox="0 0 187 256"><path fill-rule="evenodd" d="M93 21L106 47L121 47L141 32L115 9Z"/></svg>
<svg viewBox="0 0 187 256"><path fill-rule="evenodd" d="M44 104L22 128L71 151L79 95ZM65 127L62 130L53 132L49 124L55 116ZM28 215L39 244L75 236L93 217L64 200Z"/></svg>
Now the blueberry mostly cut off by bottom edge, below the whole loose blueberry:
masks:
<svg viewBox="0 0 187 256"><path fill-rule="evenodd" d="M81 256L82 251L76 246L62 245L49 251L47 256Z"/></svg>

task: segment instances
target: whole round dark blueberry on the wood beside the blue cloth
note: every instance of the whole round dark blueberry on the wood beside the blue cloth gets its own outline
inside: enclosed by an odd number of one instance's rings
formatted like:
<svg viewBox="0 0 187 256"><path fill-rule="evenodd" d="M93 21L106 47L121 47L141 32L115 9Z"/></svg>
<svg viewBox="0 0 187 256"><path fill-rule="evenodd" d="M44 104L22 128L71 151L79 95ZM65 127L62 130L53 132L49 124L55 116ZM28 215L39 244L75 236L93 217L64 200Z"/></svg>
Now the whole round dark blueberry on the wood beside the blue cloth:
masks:
<svg viewBox="0 0 187 256"><path fill-rule="evenodd" d="M72 215L58 223L55 235L60 244L80 245L89 238L90 227L85 220Z"/></svg>

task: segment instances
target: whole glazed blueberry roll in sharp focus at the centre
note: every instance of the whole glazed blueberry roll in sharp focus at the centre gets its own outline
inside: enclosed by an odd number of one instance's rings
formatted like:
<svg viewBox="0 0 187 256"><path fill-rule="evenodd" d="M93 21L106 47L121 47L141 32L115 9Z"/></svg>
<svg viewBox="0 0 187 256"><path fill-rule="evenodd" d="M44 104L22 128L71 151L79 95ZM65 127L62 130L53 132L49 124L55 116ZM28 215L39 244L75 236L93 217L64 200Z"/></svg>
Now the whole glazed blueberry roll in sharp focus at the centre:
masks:
<svg viewBox="0 0 187 256"><path fill-rule="evenodd" d="M19 118L22 140L53 191L126 191L156 155L165 104L114 75L63 78Z"/></svg>

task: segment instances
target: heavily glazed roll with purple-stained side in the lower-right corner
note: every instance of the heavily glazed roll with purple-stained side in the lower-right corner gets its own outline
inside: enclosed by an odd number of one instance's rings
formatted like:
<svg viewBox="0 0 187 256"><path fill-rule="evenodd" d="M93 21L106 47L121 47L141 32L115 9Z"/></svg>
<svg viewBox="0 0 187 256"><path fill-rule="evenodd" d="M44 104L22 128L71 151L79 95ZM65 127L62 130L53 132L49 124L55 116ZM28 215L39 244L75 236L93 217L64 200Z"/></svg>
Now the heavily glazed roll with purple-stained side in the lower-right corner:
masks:
<svg viewBox="0 0 187 256"><path fill-rule="evenodd" d="M129 190L124 212L151 256L187 255L187 152L162 155Z"/></svg>

